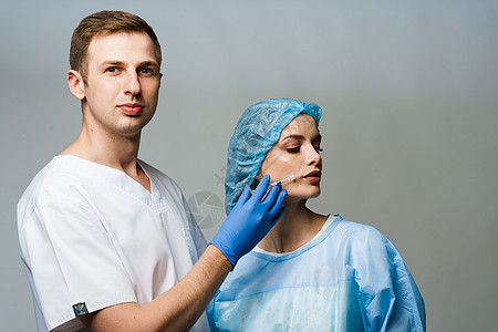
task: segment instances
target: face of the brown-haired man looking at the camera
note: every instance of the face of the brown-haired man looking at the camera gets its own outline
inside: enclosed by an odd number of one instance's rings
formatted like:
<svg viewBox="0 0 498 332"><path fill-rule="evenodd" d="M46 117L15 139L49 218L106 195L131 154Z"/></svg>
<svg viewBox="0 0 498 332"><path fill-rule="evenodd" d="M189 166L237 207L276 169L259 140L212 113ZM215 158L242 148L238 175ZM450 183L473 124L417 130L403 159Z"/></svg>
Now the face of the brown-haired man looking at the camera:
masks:
<svg viewBox="0 0 498 332"><path fill-rule="evenodd" d="M87 50L84 122L111 135L136 136L154 116L162 74L146 33L96 35Z"/></svg>

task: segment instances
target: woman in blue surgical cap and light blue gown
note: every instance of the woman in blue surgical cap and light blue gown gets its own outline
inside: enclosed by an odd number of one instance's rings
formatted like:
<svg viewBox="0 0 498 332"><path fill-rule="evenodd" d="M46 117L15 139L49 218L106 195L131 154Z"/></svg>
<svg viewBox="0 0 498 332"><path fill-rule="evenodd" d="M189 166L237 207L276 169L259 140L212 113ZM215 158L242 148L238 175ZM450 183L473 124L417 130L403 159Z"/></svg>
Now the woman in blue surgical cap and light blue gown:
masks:
<svg viewBox="0 0 498 332"><path fill-rule="evenodd" d="M422 295L396 248L370 226L313 212L321 108L267 100L239 120L228 148L226 210L263 175L289 178L286 211L242 257L208 310L220 331L423 331Z"/></svg>

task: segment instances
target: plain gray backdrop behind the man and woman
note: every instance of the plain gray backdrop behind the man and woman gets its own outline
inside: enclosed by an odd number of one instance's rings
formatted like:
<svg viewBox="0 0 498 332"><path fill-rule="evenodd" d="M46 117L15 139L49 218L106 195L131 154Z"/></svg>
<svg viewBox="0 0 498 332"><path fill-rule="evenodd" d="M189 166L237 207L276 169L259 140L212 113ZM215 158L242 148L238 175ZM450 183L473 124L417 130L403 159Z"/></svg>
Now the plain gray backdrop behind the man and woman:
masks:
<svg viewBox="0 0 498 332"><path fill-rule="evenodd" d="M165 76L141 157L187 198L224 198L226 147L252 102L315 102L324 175L310 205L395 243L429 331L498 329L497 1L135 2L0 7L1 331L34 330L15 204L79 134L70 38L102 9L137 13L159 37ZM199 208L215 214L203 226L209 239L220 216L216 204Z"/></svg>

